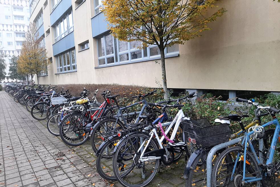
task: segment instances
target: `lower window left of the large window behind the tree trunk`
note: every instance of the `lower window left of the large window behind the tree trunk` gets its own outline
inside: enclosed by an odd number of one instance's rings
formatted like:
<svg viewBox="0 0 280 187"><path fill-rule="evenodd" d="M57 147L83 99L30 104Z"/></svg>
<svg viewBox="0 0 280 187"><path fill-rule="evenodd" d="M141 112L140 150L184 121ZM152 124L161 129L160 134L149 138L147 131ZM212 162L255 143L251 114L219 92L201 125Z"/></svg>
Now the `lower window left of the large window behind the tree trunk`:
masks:
<svg viewBox="0 0 280 187"><path fill-rule="evenodd" d="M77 69L75 49L57 56L57 73L74 71Z"/></svg>

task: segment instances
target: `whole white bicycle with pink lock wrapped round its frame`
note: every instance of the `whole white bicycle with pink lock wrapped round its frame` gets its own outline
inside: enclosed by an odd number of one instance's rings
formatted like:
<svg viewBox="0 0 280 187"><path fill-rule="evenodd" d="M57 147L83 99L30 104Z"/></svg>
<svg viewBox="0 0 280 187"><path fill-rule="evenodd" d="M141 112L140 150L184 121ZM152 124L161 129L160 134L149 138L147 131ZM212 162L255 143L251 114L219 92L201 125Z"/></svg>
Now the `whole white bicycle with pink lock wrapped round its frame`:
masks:
<svg viewBox="0 0 280 187"><path fill-rule="evenodd" d="M160 162L170 165L175 160L175 152L180 153L187 149L186 141L182 141L182 137L179 137L178 130L181 121L190 118L183 113L181 107L184 105L179 104L179 101L187 98L190 100L194 94L191 93L177 100L155 103L155 106L162 107L163 113L152 122L152 125L142 131L129 133L118 142L114 149L113 171L120 184L126 187L146 186L158 172ZM171 102L177 104L167 105ZM171 123L162 123L167 117L165 109L170 107L179 108L179 111ZM164 126L166 126L165 131ZM149 133L146 132L148 130ZM161 138L158 135L159 131L162 134ZM169 139L167 135L170 133Z"/></svg>

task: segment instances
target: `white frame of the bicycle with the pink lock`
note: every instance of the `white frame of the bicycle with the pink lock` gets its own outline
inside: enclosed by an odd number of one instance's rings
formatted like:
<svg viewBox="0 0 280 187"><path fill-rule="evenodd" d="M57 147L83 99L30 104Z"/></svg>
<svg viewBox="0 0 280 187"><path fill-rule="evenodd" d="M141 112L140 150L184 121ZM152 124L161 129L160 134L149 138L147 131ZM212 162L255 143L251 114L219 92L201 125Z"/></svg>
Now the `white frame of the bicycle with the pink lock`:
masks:
<svg viewBox="0 0 280 187"><path fill-rule="evenodd" d="M163 114L162 114L161 116L163 117L163 116L165 116L165 115L167 116L167 114L166 114L165 112L163 112ZM156 122L158 122L158 121L160 120L160 118L161 118L161 117L157 118L152 124L156 124ZM178 113L176 114L175 118L173 119L173 121L171 122L171 124L170 124L170 125L168 126L168 128L165 130L164 133L167 134L167 133L171 130L172 126L175 124L174 129L173 129L173 132L172 132L172 134L171 134L171 138L170 138L171 140L173 140L173 139L175 138L175 136L176 136L176 134L177 134L177 131L178 131L178 128L179 128L179 125L180 125L180 123L181 123L181 121L182 121L183 118L189 120L189 118L186 118L186 117L185 117L185 114L183 113L183 110L180 109L180 110L178 111ZM169 122L167 122L167 123L169 123ZM165 123L163 123L163 126L164 126L164 124L165 124ZM164 147L162 146L162 142L163 142L163 140L164 140L165 137L162 136L161 138L159 138L159 136L158 136L158 134L157 134L157 131L156 131L156 128L153 128L153 130L150 132L149 135L150 135L150 138L149 138L149 140L148 140L146 146L144 147L144 149L143 149L143 146L144 146L144 143L145 143L145 142L143 142L143 143L141 144L141 146L139 147L139 149L137 150L137 152L142 151L142 153L141 153L141 155L140 155L140 158L139 158L139 160L141 160L141 161L154 160L154 159L160 159L160 158L161 158L160 156L146 156L146 157L143 157L143 155L144 155L146 149L148 148L148 146L149 146L149 144L150 144L150 142L151 142L151 140L152 140L152 138L153 138L154 136L156 137L156 140L158 141L158 144L159 144L160 148L161 148L161 149L164 148ZM170 144L170 145L173 145L173 144L170 143L170 142L169 142L169 144Z"/></svg>

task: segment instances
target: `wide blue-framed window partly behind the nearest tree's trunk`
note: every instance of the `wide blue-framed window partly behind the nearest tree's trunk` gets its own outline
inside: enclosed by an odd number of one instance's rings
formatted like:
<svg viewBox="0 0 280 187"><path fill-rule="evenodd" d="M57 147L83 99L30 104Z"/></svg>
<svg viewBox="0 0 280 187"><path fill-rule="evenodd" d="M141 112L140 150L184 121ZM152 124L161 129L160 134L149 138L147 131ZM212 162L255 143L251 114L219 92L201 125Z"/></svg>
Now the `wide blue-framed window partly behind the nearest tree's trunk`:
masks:
<svg viewBox="0 0 280 187"><path fill-rule="evenodd" d="M121 64L138 60L148 60L160 57L160 50L156 45L138 49L140 41L125 42L114 38L111 34L97 39L99 66ZM179 46L165 48L165 56L178 54Z"/></svg>

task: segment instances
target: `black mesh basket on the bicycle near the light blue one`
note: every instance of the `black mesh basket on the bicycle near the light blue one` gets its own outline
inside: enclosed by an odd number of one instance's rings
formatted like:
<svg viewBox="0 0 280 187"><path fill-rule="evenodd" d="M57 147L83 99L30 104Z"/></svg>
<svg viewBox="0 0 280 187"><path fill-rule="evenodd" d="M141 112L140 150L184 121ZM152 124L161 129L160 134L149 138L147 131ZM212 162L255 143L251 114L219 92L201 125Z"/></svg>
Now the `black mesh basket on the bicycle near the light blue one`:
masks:
<svg viewBox="0 0 280 187"><path fill-rule="evenodd" d="M183 125L185 141L188 142L188 138L195 139L196 146L201 147L227 142L232 134L228 124L211 125L206 118L184 120L181 124Z"/></svg>

